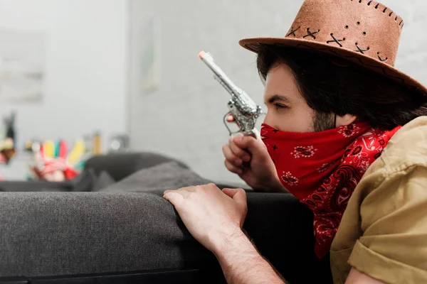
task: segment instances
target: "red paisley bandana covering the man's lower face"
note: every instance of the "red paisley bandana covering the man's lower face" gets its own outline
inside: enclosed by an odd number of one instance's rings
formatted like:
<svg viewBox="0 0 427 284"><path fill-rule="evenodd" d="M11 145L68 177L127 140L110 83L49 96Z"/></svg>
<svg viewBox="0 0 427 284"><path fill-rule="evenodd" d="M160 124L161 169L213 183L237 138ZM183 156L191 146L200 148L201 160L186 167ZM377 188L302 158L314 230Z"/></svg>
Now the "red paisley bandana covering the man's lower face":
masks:
<svg viewBox="0 0 427 284"><path fill-rule="evenodd" d="M315 214L317 257L330 250L354 188L400 128L380 131L356 123L327 131L290 133L263 124L261 138L280 181Z"/></svg>

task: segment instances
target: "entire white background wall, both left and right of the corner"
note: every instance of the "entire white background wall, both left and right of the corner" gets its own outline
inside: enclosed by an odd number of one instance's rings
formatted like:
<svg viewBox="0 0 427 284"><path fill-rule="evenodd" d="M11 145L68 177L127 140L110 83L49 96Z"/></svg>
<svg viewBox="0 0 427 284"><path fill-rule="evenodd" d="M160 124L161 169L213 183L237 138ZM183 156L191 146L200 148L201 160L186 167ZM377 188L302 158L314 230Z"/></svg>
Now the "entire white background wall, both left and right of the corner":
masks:
<svg viewBox="0 0 427 284"><path fill-rule="evenodd" d="M350 1L350 0L337 0ZM368 0L362 0L367 2ZM384 0L405 19L397 67L427 84L425 0ZM18 148L26 139L93 131L130 135L132 151L155 151L188 163L214 181L239 179L223 166L228 93L197 57L201 50L258 104L263 85L255 55L238 40L283 36L302 0L0 0L0 31L46 35L43 99L11 103ZM333 16L333 11L331 11ZM154 34L147 33L154 23ZM154 89L147 88L147 45L154 39ZM1 62L0 62L1 63ZM145 86L145 87L144 87Z"/></svg>

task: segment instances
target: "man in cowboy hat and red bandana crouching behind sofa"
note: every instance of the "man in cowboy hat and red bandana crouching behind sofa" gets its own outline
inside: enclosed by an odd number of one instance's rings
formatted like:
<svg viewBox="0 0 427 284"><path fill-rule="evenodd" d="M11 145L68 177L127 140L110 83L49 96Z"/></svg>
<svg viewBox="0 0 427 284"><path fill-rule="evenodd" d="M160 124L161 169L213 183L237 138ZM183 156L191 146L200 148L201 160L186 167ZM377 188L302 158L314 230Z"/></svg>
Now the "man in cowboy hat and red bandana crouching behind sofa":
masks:
<svg viewBox="0 0 427 284"><path fill-rule="evenodd" d="M375 1L306 0L285 38L241 40L258 54L268 114L262 141L224 146L226 167L312 210L315 253L330 255L334 283L427 282L427 89L393 67L402 27ZM228 283L286 281L241 229L243 190L164 198Z"/></svg>

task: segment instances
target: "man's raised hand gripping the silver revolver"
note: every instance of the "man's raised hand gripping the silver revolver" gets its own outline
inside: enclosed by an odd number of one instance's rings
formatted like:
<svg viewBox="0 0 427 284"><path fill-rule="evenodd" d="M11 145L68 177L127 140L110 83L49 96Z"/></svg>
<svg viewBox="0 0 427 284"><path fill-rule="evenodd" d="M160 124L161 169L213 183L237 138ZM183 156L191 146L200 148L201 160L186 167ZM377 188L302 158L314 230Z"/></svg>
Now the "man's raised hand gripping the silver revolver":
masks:
<svg viewBox="0 0 427 284"><path fill-rule="evenodd" d="M234 121L233 116L227 119ZM234 136L223 146L226 168L250 185L264 192L288 192L279 180L273 160L263 141L252 136ZM250 167L242 170L243 163Z"/></svg>

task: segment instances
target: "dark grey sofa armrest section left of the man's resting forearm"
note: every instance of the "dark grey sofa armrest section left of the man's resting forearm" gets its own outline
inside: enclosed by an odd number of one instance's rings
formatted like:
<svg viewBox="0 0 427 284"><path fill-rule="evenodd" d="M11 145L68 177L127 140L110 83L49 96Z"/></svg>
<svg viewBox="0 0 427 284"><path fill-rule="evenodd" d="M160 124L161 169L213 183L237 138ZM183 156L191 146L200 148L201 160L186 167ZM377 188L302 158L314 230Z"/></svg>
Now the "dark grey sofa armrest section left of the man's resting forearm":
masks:
<svg viewBox="0 0 427 284"><path fill-rule="evenodd" d="M215 263L152 193L2 192L0 231L0 278Z"/></svg>

